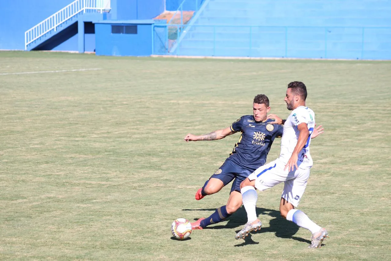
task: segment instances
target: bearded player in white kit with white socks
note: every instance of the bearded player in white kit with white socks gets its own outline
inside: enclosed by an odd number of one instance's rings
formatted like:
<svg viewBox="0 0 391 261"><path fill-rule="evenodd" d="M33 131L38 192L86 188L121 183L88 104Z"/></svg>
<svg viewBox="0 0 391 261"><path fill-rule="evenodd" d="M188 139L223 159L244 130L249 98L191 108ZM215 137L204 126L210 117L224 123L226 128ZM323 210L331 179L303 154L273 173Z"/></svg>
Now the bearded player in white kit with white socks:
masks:
<svg viewBox="0 0 391 261"><path fill-rule="evenodd" d="M287 109L292 111L291 114L285 123L274 114L268 116L268 118L274 118L275 123L284 124L280 157L256 169L240 184L240 193L242 193L248 222L236 234L235 239L244 238L249 232L262 227L255 212L258 199L255 188L263 191L284 182L280 201L281 216L310 230L312 237L311 245L308 247L318 248L328 237L327 230L311 221L304 212L294 208L298 206L310 176L312 167L310 143L315 127L315 114L305 106L307 88L304 83L291 82L287 87L284 100L287 103Z"/></svg>

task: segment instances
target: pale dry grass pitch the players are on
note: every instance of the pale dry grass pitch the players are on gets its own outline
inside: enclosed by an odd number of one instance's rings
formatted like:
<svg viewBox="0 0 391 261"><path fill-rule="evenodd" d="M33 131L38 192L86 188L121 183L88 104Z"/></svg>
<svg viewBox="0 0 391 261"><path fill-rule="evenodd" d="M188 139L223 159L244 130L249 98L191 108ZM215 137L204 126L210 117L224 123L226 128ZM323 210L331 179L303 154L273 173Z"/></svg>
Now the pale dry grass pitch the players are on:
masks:
<svg viewBox="0 0 391 261"><path fill-rule="evenodd" d="M259 193L264 227L246 241L243 207L172 239L174 219L225 205L230 186L194 194L239 134L183 137L229 127L258 93L286 117L294 80L326 130L299 205L328 229L324 246L279 216L282 184ZM391 62L0 52L0 259L390 260L390 83Z"/></svg>

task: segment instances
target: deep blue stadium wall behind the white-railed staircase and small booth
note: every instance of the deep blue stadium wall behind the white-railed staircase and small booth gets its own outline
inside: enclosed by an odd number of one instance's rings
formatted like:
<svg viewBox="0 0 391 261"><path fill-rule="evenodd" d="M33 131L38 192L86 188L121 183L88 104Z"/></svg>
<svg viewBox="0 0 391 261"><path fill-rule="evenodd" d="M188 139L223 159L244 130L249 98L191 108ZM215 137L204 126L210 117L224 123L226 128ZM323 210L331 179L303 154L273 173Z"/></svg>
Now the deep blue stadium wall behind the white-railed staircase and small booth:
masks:
<svg viewBox="0 0 391 261"><path fill-rule="evenodd" d="M61 10L73 0L0 0L0 49L24 50L24 32ZM150 19L163 13L165 0L111 0L108 20ZM40 45L38 49L78 51L77 24L70 25L59 36ZM91 22L84 24L85 51L95 50L95 29Z"/></svg>

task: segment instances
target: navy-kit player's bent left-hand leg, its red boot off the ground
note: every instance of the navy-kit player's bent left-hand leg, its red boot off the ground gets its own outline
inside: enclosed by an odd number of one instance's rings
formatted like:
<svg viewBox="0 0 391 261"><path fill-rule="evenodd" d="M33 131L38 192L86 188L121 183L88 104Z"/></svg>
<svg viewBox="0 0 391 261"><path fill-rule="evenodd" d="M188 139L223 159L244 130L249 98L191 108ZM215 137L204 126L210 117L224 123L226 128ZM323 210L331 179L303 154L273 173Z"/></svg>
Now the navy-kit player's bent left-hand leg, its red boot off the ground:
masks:
<svg viewBox="0 0 391 261"><path fill-rule="evenodd" d="M237 165L230 160L226 160L221 167L205 182L202 188L195 193L195 199L200 200L206 195L219 192L225 185L235 178Z"/></svg>

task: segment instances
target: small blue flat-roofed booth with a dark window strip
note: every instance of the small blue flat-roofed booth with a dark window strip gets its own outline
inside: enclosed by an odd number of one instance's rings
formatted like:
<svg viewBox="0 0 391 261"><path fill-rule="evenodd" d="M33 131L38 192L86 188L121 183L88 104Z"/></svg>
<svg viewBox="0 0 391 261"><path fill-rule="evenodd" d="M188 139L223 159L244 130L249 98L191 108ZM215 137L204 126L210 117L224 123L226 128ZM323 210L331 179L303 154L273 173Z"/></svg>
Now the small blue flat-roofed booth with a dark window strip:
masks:
<svg viewBox="0 0 391 261"><path fill-rule="evenodd" d="M97 55L150 56L154 20L106 20L95 23ZM112 26L136 25L136 34L112 33Z"/></svg>

